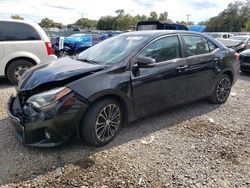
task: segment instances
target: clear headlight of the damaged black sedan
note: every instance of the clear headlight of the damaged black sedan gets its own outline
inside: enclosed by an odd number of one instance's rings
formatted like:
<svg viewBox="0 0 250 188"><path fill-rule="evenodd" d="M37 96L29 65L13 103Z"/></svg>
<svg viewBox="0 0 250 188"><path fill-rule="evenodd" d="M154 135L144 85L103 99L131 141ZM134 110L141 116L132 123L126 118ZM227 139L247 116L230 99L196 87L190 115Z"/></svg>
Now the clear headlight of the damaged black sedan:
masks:
<svg viewBox="0 0 250 188"><path fill-rule="evenodd" d="M43 108L48 105L54 104L59 99L71 92L71 89L66 87L60 87L51 89L36 95L31 96L27 103L35 106L36 108Z"/></svg>

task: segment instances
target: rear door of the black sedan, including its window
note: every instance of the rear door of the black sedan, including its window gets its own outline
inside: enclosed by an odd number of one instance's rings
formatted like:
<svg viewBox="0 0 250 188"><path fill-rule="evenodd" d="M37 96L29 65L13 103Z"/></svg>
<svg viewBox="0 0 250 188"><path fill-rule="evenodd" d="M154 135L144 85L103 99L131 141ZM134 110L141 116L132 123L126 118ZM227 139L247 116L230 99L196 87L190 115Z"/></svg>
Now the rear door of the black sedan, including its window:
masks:
<svg viewBox="0 0 250 188"><path fill-rule="evenodd" d="M216 81L217 47L201 35L182 35L188 68L188 101L207 97Z"/></svg>

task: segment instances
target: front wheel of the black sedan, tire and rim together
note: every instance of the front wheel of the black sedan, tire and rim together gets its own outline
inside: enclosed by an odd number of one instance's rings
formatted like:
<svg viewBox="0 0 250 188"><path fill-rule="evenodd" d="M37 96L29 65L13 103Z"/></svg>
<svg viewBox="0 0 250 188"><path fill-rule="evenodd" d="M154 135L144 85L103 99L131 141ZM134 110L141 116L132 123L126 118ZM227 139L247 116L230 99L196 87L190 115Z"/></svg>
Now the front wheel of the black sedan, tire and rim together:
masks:
<svg viewBox="0 0 250 188"><path fill-rule="evenodd" d="M108 113L109 111L111 111L112 107L114 112L116 112L115 110L117 109L119 110L119 115L117 116L116 119L111 120L112 118L110 118L110 120L107 119L105 120L103 114L104 111ZM108 111L108 109L110 110ZM103 116L100 114L103 114ZM114 122L116 121L116 124L113 124L113 121ZM104 146L108 144L115 137L115 135L119 131L119 128L122 125L122 122L123 122L123 113L121 105L118 101L111 98L98 100L95 103L93 103L92 106L84 114L84 117L80 125L81 137L83 138L84 141L94 146ZM100 136L102 131L105 132L103 138ZM110 137L108 137L108 135ZM105 136L108 138L104 138Z"/></svg>

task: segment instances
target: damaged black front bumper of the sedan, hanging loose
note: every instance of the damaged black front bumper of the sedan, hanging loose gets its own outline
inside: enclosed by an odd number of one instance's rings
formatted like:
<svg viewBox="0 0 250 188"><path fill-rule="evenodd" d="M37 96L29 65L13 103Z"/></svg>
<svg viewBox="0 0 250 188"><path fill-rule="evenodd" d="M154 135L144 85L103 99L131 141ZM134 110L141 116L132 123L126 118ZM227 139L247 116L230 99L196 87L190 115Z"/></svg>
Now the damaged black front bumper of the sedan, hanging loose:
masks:
<svg viewBox="0 0 250 188"><path fill-rule="evenodd" d="M71 104L69 105L69 100ZM88 105L74 94L59 101L46 112L27 115L19 98L11 96L7 112L16 129L18 140L25 146L54 147L63 144L78 132L81 117Z"/></svg>

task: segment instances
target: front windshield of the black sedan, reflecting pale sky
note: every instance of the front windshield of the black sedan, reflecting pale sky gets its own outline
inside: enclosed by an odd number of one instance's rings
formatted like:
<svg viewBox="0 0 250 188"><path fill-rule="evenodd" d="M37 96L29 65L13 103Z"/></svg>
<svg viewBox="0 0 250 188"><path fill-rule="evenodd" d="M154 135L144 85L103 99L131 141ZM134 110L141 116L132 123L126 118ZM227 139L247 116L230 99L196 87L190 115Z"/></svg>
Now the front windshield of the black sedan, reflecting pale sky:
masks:
<svg viewBox="0 0 250 188"><path fill-rule="evenodd" d="M147 39L148 37L138 35L118 35L85 50L79 54L78 59L98 64L116 64Z"/></svg>

